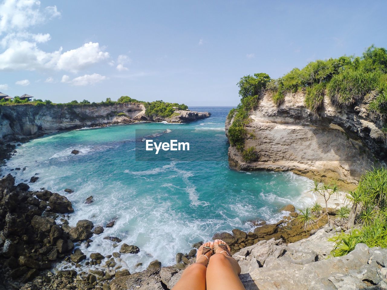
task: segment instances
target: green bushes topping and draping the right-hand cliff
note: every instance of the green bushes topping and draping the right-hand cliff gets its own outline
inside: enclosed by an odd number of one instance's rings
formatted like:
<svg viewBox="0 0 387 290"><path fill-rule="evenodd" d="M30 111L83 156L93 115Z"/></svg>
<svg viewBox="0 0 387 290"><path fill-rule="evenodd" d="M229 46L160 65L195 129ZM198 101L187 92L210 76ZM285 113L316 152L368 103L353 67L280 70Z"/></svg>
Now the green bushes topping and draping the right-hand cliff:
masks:
<svg viewBox="0 0 387 290"><path fill-rule="evenodd" d="M248 136L245 126L249 123L249 113L257 107L264 91L276 106L283 104L287 93L305 91L305 107L315 114L324 106L325 96L334 106L346 107L353 106L370 92L377 92L368 110L387 119L387 50L372 45L362 56L344 55L312 61L304 68L294 68L277 79L265 73L255 73L242 77L237 85L241 102L230 111L228 120L235 114L229 140L240 151L244 150L244 138ZM386 138L387 123L381 129Z"/></svg>

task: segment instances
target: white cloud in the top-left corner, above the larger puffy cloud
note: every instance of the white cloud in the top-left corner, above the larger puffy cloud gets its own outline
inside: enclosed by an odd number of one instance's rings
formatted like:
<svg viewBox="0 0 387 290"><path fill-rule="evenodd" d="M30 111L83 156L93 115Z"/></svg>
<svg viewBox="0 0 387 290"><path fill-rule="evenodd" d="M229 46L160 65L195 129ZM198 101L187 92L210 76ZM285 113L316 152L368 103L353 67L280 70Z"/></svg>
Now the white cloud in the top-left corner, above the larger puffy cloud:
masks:
<svg viewBox="0 0 387 290"><path fill-rule="evenodd" d="M5 0L0 5L0 35L3 32L23 30L59 16L56 6L41 11L39 0Z"/></svg>

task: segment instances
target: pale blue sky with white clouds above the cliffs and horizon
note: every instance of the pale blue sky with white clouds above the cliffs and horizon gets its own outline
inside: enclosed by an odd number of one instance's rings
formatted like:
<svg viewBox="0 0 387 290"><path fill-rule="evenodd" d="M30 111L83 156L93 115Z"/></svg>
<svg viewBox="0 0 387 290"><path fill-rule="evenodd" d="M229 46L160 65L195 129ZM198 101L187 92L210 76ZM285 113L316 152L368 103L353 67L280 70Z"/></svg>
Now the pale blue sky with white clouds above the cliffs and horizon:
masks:
<svg viewBox="0 0 387 290"><path fill-rule="evenodd" d="M0 0L0 92L236 106L236 83L387 48L386 1Z"/></svg>

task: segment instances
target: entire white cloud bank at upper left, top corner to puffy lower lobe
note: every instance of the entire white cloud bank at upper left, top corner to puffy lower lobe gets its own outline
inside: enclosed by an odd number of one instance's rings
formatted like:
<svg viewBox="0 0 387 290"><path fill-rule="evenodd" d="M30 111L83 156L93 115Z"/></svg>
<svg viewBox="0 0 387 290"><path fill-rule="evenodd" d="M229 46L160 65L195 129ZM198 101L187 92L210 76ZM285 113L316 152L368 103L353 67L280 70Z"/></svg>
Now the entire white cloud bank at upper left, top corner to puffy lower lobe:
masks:
<svg viewBox="0 0 387 290"><path fill-rule="evenodd" d="M46 43L50 34L33 34L27 28L60 17L56 6L41 9L39 0L5 0L0 4L0 70L63 70L78 72L99 61L110 58L99 43L85 43L63 52L43 51L38 43Z"/></svg>

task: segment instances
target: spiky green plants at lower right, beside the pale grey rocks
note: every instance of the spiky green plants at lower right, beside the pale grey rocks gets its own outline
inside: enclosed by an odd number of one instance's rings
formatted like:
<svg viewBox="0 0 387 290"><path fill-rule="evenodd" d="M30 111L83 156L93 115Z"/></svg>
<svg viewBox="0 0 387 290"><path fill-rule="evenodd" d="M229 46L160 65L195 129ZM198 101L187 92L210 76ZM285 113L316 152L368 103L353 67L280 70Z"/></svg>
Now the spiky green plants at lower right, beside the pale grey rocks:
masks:
<svg viewBox="0 0 387 290"><path fill-rule="evenodd" d="M339 210L341 223L348 218L348 225L357 223L357 229L342 232L330 241L335 246L330 253L337 257L348 254L356 244L365 243L368 247L387 247L387 169L375 168L361 176L359 186L350 191L347 200L351 209Z"/></svg>

